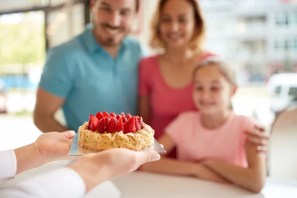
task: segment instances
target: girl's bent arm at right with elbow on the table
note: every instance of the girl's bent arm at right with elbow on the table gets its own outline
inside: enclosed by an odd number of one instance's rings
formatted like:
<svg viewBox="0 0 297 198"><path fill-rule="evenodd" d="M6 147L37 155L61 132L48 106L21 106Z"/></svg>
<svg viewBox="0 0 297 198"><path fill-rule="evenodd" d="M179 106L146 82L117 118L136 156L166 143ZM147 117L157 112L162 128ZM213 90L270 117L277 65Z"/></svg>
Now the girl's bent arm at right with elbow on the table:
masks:
<svg viewBox="0 0 297 198"><path fill-rule="evenodd" d="M266 154L258 152L256 145L247 143L248 167L242 168L220 160L206 160L203 163L232 183L259 193L265 185Z"/></svg>

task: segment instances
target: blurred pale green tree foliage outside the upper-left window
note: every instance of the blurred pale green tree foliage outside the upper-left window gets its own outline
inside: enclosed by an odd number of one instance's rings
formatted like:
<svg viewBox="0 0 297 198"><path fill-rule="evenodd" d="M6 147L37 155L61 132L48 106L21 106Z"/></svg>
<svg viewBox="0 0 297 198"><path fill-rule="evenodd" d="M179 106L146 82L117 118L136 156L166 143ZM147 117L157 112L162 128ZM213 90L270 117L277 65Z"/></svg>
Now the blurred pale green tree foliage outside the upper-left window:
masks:
<svg viewBox="0 0 297 198"><path fill-rule="evenodd" d="M30 15L31 14L31 15ZM44 22L40 23L40 13L23 13L23 20L17 24L0 23L0 67L18 64L17 73L26 73L29 64L43 66L45 49ZM34 18L38 20L34 20ZM6 68L7 69L7 68ZM22 70L22 71L20 71Z"/></svg>

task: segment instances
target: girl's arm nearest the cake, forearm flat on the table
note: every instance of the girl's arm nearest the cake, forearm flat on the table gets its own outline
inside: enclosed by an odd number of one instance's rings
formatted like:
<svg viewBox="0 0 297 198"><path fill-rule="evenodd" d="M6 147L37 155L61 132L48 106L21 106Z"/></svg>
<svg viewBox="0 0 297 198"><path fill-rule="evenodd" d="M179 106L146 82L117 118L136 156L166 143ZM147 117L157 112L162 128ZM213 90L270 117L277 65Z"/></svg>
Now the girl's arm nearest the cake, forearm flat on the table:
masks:
<svg viewBox="0 0 297 198"><path fill-rule="evenodd" d="M158 142L164 146L167 152L170 152L175 147L174 142L167 134L160 137ZM141 170L183 176L196 176L200 179L226 182L224 178L201 163L179 161L165 156L162 156L159 161L142 165Z"/></svg>

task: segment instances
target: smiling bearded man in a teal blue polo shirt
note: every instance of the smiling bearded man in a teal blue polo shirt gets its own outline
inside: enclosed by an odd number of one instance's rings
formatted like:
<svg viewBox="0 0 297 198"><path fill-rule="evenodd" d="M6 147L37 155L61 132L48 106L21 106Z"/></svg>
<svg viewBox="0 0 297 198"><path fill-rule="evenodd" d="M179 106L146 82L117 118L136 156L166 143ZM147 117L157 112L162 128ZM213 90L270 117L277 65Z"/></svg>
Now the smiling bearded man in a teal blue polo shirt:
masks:
<svg viewBox="0 0 297 198"><path fill-rule="evenodd" d="M41 131L77 131L97 111L136 114L144 52L127 34L138 7L139 0L91 0L94 27L49 50L34 111ZM67 128L54 119L60 107Z"/></svg>

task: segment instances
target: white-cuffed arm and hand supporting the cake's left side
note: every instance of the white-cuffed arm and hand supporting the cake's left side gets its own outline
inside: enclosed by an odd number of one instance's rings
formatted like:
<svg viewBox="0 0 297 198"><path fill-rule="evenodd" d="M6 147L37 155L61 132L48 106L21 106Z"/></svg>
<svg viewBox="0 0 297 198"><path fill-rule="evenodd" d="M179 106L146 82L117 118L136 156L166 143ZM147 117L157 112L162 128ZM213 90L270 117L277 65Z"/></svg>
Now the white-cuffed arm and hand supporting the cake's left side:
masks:
<svg viewBox="0 0 297 198"><path fill-rule="evenodd" d="M1 151L0 180L12 178L16 174L54 160L65 159L74 136L74 131L50 132L41 135L30 145Z"/></svg>

